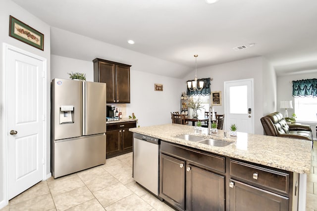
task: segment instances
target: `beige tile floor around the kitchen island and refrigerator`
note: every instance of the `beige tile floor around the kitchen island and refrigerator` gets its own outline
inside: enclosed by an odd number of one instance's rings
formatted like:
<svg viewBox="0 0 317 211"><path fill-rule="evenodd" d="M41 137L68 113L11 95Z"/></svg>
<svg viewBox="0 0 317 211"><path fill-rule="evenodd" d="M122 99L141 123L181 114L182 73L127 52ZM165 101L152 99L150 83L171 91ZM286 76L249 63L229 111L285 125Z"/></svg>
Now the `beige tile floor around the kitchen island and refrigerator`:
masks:
<svg viewBox="0 0 317 211"><path fill-rule="evenodd" d="M307 176L306 211L317 211L317 142ZM52 177L9 201L1 211L173 211L132 178L132 153L57 179Z"/></svg>

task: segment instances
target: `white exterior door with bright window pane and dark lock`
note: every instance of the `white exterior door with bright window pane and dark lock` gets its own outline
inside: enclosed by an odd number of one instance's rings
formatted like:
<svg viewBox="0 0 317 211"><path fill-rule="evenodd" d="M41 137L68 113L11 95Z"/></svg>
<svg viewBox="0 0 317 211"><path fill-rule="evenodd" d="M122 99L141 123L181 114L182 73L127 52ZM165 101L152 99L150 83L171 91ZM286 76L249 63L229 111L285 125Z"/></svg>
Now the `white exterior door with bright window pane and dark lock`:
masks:
<svg viewBox="0 0 317 211"><path fill-rule="evenodd" d="M235 124L239 132L254 133L253 79L224 82L225 129Z"/></svg>

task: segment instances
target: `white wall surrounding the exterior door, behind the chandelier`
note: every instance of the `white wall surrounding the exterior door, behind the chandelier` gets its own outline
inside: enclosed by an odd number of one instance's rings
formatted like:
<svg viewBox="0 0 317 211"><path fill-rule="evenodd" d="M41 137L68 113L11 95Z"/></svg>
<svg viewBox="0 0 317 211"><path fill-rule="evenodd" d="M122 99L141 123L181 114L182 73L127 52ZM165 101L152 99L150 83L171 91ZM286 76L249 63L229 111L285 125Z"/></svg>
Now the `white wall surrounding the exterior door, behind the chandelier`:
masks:
<svg viewBox="0 0 317 211"><path fill-rule="evenodd" d="M255 133L263 134L261 117L263 116L263 72L264 57L254 57L250 59L238 60L210 67L197 69L197 78L213 78L211 81L211 91L221 91L221 106L214 106L217 114L224 114L224 82L242 79L254 79L254 119ZM187 75L184 81L192 80L194 72Z"/></svg>

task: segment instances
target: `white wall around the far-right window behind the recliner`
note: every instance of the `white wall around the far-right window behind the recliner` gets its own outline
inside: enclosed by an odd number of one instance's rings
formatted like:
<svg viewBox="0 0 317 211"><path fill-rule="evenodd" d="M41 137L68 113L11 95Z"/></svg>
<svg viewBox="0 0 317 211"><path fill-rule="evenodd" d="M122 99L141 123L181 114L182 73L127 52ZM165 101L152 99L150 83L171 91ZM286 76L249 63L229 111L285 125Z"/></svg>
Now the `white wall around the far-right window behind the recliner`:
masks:
<svg viewBox="0 0 317 211"><path fill-rule="evenodd" d="M291 75L283 75L277 77L277 111L281 112L284 115L285 109L280 108L280 101L282 100L292 100L294 107L294 97L292 96L292 81L303 80L303 79L314 79L317 74L315 73L296 73ZM294 109L288 109L288 115L292 115ZM316 124L311 124L313 137L316 140Z"/></svg>

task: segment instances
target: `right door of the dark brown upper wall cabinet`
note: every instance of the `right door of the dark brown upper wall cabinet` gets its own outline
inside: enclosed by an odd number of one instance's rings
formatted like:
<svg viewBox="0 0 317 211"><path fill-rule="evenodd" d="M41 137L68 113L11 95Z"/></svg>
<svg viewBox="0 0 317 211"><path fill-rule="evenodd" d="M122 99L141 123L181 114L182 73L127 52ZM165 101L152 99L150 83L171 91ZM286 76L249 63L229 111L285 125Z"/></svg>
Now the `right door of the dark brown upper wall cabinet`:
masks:
<svg viewBox="0 0 317 211"><path fill-rule="evenodd" d="M117 103L130 103L130 67L116 65Z"/></svg>

